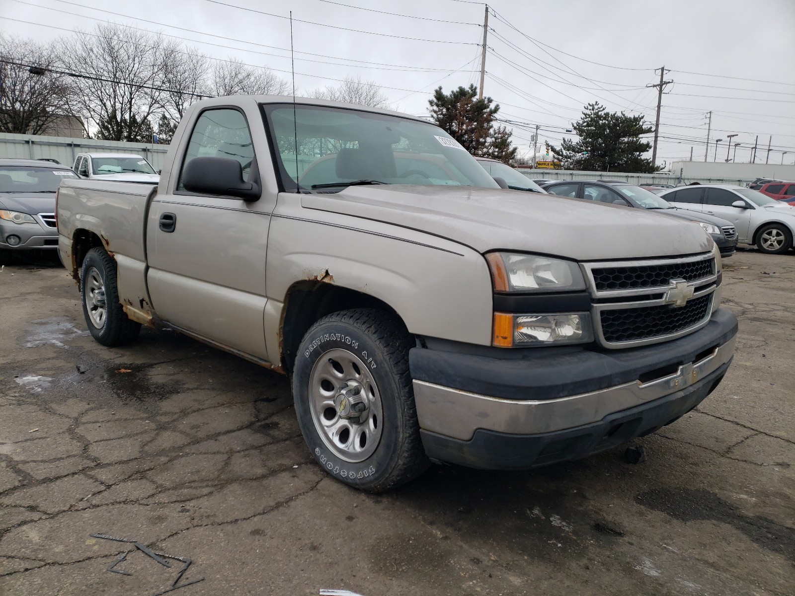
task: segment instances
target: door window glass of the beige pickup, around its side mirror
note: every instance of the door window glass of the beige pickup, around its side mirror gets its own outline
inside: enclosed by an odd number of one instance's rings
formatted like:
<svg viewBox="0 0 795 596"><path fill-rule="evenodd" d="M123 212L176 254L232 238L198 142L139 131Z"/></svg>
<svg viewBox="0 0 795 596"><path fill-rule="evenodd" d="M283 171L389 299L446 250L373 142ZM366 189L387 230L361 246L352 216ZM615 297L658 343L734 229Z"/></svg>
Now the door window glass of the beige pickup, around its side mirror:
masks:
<svg viewBox="0 0 795 596"><path fill-rule="evenodd" d="M243 180L248 180L251 162L254 161L254 145L246 117L231 108L204 111L193 127L182 164L183 172L185 164L196 157L226 157L239 161ZM176 189L184 191L181 172Z"/></svg>

